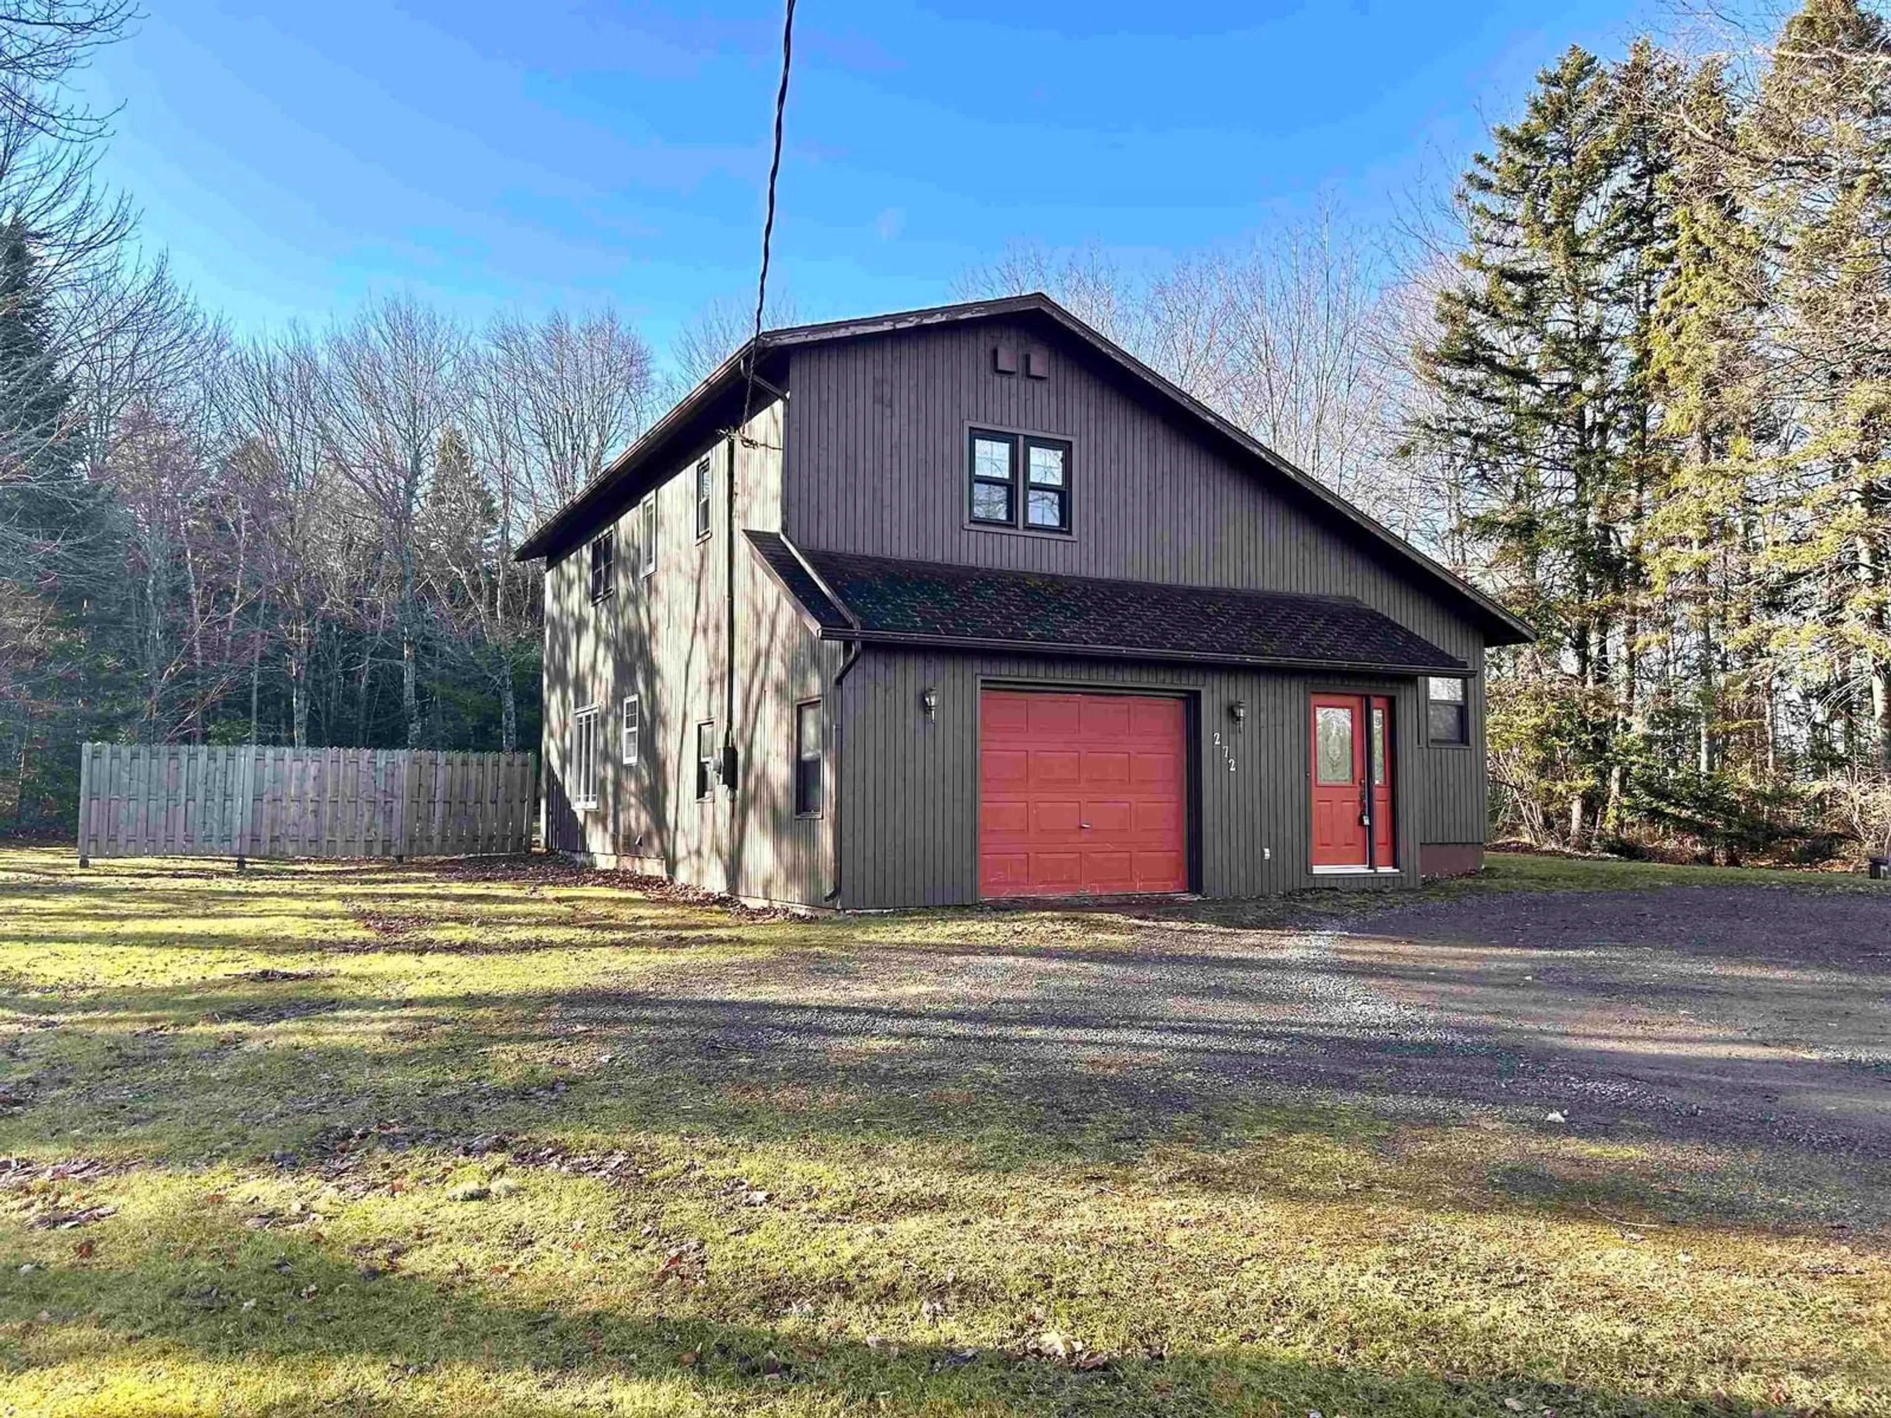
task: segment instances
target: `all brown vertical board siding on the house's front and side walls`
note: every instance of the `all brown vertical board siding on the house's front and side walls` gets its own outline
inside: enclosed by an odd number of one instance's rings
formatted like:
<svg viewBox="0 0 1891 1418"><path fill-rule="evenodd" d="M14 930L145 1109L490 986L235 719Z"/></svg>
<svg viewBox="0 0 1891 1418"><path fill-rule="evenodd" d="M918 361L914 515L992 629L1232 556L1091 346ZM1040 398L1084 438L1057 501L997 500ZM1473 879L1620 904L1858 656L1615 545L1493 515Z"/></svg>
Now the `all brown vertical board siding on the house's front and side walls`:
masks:
<svg viewBox="0 0 1891 1418"><path fill-rule="evenodd" d="M991 346L1048 344L1050 378L997 374ZM787 902L917 906L978 894L978 696L987 683L1178 694L1189 705L1195 885L1218 896L1414 883L1422 843L1486 834L1484 637L1460 605L1290 478L1223 450L1150 403L1121 371L1038 325L908 329L785 355L772 403L734 450L707 444L713 535L694 539L696 456L654 482L658 571L641 577L637 509L615 524L616 592L592 605L588 548L546 573L543 830L552 849ZM1072 537L966 526L966 429L1068 439ZM841 647L819 641L737 543L739 527L800 546L966 565L1354 596L1471 666L1471 749L1426 743L1418 677L1318 675L1031 654L868 650L836 701ZM724 594L734 575L736 641ZM734 664L734 703L724 671ZM919 694L940 694L925 720ZM1314 877L1309 698L1394 700L1399 872ZM620 762L624 696L641 703L641 762ZM794 815L794 707L821 698L826 802ZM1235 728L1227 707L1248 705ZM573 713L596 705L594 807L569 798ZM739 785L694 798L696 724L734 728ZM836 754L840 741L840 754ZM529 770L528 770L529 771ZM840 860L832 815L840 813ZM478 836L477 822L461 824ZM1271 853L1271 855L1269 855Z"/></svg>

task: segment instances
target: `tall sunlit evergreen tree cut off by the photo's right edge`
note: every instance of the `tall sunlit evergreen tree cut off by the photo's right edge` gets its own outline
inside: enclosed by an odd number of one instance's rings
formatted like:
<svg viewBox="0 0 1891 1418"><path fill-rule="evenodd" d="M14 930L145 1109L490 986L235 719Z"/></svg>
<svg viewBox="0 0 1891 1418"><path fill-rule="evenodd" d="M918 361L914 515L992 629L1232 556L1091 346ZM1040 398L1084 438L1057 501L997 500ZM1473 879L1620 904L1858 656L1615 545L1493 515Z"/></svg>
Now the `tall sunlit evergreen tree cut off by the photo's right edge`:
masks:
<svg viewBox="0 0 1891 1418"><path fill-rule="evenodd" d="M1772 378L1798 410L1776 459L1796 592L1774 643L1868 724L1891 768L1891 32L1857 0L1808 0L1740 132L1772 289ZM1857 705L1857 715L1853 715Z"/></svg>

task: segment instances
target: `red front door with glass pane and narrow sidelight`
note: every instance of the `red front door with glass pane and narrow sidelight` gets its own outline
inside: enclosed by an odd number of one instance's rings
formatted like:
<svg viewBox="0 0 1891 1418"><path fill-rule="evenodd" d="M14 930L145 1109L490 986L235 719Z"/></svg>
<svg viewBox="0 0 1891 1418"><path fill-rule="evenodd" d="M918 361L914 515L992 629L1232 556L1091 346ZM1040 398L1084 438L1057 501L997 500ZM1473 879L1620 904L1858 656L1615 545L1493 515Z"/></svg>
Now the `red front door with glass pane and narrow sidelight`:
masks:
<svg viewBox="0 0 1891 1418"><path fill-rule="evenodd" d="M1312 864L1397 864L1384 694L1312 696Z"/></svg>

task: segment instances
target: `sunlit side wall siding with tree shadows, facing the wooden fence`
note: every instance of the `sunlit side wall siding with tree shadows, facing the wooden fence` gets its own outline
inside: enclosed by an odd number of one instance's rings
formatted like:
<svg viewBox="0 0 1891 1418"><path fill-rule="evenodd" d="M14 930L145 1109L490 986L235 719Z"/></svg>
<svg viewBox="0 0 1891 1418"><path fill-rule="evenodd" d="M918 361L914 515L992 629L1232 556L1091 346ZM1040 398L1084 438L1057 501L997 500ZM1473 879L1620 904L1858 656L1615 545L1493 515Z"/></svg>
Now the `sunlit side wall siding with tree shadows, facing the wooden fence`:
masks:
<svg viewBox="0 0 1891 1418"><path fill-rule="evenodd" d="M711 533L696 541L698 456L656 484L658 556L649 579L630 560L637 507L613 524L616 590L590 601L588 545L546 571L545 648L545 838L581 853L675 881L819 904L832 883L828 815L794 815L794 705L828 701L840 647L819 643L796 607L756 563L745 527L781 529L781 446L787 416L777 401L745 425L736 442L736 683L728 698L730 442L711 459ZM601 527L599 527L601 531ZM596 535L596 533L594 533ZM635 558L635 560L641 560ZM641 709L639 762L622 764L622 705ZM571 802L567 773L571 717L599 707L598 805ZM824 715L828 724L832 717ZM696 800L696 724L715 722L717 743L734 724L737 787ZM832 754L823 775L832 794Z"/></svg>

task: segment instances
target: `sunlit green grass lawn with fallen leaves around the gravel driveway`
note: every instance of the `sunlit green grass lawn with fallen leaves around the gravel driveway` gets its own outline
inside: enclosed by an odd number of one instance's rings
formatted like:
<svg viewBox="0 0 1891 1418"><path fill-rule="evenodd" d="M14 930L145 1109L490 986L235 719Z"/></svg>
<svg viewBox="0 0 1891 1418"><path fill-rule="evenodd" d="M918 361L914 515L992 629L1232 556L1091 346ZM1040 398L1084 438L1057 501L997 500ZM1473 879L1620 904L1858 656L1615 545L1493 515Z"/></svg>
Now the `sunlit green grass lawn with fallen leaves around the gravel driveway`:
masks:
<svg viewBox="0 0 1891 1418"><path fill-rule="evenodd" d="M904 1087L872 1034L809 1078L611 1008L1140 928L0 851L0 1414L1891 1412L1887 1236L1679 1204L1632 1144Z"/></svg>

